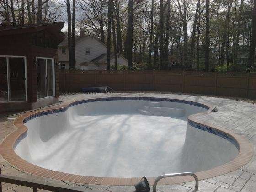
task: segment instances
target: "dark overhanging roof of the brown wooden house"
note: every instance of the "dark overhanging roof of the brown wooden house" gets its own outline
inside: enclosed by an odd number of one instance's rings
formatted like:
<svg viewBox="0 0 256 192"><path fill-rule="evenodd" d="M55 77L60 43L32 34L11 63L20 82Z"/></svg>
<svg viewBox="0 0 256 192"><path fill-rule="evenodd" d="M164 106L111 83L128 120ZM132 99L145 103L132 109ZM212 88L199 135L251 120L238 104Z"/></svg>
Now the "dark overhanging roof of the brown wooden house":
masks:
<svg viewBox="0 0 256 192"><path fill-rule="evenodd" d="M61 32L64 27L64 22L54 22L54 23L41 23L41 24L28 24L28 25L9 25L0 26L0 36L9 36L22 33L33 33L42 30L47 30L56 36L56 38L61 42L65 35Z"/></svg>

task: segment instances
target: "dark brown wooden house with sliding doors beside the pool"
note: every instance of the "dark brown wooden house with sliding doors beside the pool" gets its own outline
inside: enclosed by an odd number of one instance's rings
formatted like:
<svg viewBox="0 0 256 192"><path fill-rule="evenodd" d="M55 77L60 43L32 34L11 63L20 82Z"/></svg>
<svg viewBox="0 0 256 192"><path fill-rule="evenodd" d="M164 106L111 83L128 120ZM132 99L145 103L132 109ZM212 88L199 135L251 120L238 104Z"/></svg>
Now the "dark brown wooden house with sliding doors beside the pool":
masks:
<svg viewBox="0 0 256 192"><path fill-rule="evenodd" d="M64 22L0 25L0 112L58 101L55 63L58 44L64 40L63 27Z"/></svg>

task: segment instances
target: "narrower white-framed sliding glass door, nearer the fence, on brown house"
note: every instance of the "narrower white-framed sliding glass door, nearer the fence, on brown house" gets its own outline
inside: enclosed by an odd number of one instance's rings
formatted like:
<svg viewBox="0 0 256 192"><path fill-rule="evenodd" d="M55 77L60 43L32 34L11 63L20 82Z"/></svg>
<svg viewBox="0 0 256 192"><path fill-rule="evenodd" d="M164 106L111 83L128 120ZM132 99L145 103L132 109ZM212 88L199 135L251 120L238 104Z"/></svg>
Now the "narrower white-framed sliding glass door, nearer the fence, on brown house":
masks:
<svg viewBox="0 0 256 192"><path fill-rule="evenodd" d="M53 59L37 58L37 98L53 96L54 93Z"/></svg>

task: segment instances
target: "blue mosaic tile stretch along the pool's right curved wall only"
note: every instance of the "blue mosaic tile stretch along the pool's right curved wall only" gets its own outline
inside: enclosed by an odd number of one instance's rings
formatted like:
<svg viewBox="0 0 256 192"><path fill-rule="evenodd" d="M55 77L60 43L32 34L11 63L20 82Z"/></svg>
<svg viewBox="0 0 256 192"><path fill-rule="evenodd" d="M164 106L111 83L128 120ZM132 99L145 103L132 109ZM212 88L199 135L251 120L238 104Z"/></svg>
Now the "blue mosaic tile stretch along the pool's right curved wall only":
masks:
<svg viewBox="0 0 256 192"><path fill-rule="evenodd" d="M237 142L237 140L233 136L229 135L228 133L220 131L220 130L218 130L216 128L212 128L212 127L206 126L206 125L201 124L201 123L196 123L196 122L191 121L189 119L188 119L188 124L191 125L194 128L198 128L200 130L207 131L208 133L212 133L212 134L217 135L217 136L219 136L219 137L221 137L223 139L226 139L230 143L234 144L235 147L238 150L240 150L240 146L239 146L239 143Z"/></svg>

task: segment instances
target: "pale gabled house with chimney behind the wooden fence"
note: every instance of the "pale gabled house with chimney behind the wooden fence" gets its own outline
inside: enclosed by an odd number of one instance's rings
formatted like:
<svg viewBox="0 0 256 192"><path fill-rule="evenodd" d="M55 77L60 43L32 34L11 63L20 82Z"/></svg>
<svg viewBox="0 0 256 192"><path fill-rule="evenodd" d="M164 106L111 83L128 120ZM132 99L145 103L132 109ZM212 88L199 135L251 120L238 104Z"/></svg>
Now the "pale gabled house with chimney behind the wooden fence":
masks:
<svg viewBox="0 0 256 192"><path fill-rule="evenodd" d="M96 37L85 35L80 31L80 36L76 37L75 46L75 68L80 70L106 70L107 69L107 46ZM69 69L68 39L65 39L58 46L58 57L61 66L59 68ZM114 54L111 54L110 63L115 64ZM128 60L122 55L117 55L117 65L119 67L128 66Z"/></svg>

